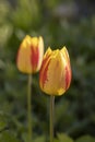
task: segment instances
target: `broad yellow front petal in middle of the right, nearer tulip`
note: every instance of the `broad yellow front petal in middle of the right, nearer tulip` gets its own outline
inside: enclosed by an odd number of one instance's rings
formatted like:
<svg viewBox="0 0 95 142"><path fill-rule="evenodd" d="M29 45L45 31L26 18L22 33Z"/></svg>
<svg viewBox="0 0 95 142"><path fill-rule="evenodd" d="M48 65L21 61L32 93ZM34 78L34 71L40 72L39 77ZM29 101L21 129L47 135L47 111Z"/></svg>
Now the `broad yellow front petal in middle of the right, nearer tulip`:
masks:
<svg viewBox="0 0 95 142"><path fill-rule="evenodd" d="M44 85L44 91L50 95L62 95L64 88L64 68L66 60L59 50L54 51L51 60L48 66L47 80Z"/></svg>

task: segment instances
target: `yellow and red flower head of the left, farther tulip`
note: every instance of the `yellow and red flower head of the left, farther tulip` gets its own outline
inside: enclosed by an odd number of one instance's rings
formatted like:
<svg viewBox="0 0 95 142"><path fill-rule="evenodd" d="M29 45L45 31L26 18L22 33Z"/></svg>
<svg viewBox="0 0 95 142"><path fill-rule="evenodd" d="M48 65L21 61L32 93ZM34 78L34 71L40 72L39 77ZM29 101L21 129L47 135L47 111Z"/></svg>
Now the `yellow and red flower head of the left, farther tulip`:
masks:
<svg viewBox="0 0 95 142"><path fill-rule="evenodd" d="M39 71L43 56L43 37L31 37L26 35L17 52L17 69L23 73L35 73Z"/></svg>

